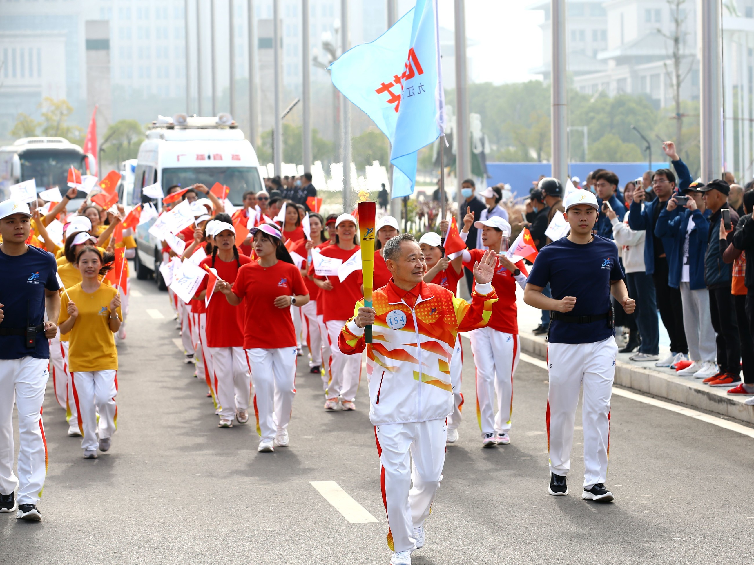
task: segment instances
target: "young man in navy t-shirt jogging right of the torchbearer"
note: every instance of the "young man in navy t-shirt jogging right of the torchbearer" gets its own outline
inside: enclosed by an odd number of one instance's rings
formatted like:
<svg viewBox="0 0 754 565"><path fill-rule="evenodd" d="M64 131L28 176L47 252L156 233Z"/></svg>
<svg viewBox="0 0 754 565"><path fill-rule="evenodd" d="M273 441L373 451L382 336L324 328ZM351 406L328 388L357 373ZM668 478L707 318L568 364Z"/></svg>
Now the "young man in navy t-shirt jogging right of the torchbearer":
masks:
<svg viewBox="0 0 754 565"><path fill-rule="evenodd" d="M577 190L566 197L566 221L571 233L543 247L529 273L524 302L550 310L547 369L547 440L550 450L550 488L554 496L568 494L566 474L584 385L583 499L608 501L605 488L610 438L610 397L615 376L615 343L610 296L630 314L635 307L624 283L618 247L592 235L599 215L595 196ZM547 283L553 297L542 294Z"/></svg>

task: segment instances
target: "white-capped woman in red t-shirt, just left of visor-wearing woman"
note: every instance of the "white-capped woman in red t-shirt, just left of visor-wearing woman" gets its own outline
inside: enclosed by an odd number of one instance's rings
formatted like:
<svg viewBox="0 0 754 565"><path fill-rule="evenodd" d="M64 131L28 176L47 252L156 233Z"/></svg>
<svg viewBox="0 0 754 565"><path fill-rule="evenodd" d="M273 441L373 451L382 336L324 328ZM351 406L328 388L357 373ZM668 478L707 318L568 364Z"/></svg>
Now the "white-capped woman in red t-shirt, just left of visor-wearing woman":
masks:
<svg viewBox="0 0 754 565"><path fill-rule="evenodd" d="M218 217L219 216L219 217ZM225 217L223 217L225 216ZM219 223L213 225L215 245L212 255L199 263L216 269L218 283L225 281L232 284L238 276L241 266L251 263L251 259L238 253L235 246L235 229L227 214L218 214ZM207 277L201 281L198 298L207 295ZM241 319L244 305L228 304L223 296L213 294L207 306L207 347L212 355L213 383L219 404L220 428L232 428L233 418L239 424L249 421L249 398L251 396L251 379L249 366L244 355L244 333Z"/></svg>

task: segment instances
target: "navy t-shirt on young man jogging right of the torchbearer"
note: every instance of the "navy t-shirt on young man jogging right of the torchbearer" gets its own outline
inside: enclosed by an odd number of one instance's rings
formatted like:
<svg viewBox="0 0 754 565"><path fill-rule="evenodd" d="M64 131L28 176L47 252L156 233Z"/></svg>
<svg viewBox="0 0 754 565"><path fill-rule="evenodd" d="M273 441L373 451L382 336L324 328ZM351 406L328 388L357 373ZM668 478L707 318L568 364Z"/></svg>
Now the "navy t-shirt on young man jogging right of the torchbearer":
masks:
<svg viewBox="0 0 754 565"><path fill-rule="evenodd" d="M588 244L575 244L568 238L560 238L542 247L535 259L527 282L537 287L550 283L553 298L575 296L576 306L572 316L594 316L610 309L610 281L624 278L618 247L600 235L595 235ZM613 335L607 320L589 324L570 324L550 321L550 343L601 342Z"/></svg>

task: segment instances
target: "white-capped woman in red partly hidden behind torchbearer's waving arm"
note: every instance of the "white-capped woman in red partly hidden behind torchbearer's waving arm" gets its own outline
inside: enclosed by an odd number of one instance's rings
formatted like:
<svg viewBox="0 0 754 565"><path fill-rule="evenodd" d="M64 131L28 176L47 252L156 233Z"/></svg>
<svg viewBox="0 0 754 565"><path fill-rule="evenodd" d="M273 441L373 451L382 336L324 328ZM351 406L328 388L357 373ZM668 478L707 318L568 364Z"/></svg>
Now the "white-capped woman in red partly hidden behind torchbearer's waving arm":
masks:
<svg viewBox="0 0 754 565"><path fill-rule="evenodd" d="M447 221L440 223L440 229L447 231ZM421 253L427 263L424 275L426 283L439 284L450 290L454 295L458 290L458 281L463 276L462 253L454 259L445 256L443 238L435 232L427 232L419 239ZM464 395L461 394L461 368L464 363L463 349L461 349L461 335L455 337L455 349L450 358L450 385L453 389L453 411L448 416L448 435L446 442L455 444L458 441L458 426L461 425L461 407L464 405Z"/></svg>

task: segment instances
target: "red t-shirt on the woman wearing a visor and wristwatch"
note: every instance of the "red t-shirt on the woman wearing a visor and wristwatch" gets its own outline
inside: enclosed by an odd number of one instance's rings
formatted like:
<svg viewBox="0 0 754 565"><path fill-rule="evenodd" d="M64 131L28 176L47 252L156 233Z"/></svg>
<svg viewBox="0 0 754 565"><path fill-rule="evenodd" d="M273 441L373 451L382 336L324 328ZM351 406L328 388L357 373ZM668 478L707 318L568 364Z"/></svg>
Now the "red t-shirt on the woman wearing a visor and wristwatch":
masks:
<svg viewBox="0 0 754 565"><path fill-rule="evenodd" d="M277 296L306 294L306 285L295 265L278 261L262 267L256 261L238 271L233 292L245 299L244 349L296 347L296 330L290 309L277 308ZM223 296L225 299L225 296ZM210 305L211 306L211 305Z"/></svg>

